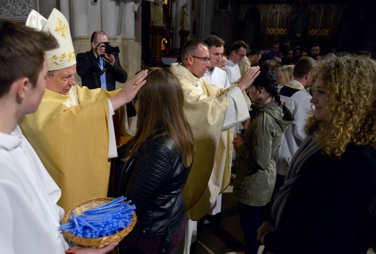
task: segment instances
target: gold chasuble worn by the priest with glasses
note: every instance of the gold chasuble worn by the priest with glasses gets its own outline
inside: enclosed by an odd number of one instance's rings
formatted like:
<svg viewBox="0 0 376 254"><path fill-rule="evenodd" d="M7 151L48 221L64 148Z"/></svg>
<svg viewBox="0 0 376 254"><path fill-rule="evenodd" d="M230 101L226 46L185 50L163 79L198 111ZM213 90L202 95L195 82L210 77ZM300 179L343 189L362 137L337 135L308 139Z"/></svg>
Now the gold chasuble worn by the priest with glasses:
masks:
<svg viewBox="0 0 376 254"><path fill-rule="evenodd" d="M229 144L233 135L229 130L222 132L229 88L208 85L178 63L171 64L171 70L183 88L184 113L196 145L195 161L182 194L191 219L199 220L230 183Z"/></svg>

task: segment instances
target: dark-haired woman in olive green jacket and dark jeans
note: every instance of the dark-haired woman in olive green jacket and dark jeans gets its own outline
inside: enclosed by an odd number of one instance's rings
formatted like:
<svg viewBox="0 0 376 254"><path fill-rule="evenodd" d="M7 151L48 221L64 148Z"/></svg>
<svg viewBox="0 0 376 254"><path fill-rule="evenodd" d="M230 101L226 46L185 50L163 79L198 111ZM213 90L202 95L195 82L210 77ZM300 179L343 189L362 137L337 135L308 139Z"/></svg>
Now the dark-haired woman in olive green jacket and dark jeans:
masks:
<svg viewBox="0 0 376 254"><path fill-rule="evenodd" d="M232 144L238 154L233 196L239 201L240 225L245 237L245 254L257 254L261 208L271 199L276 156L283 132L293 116L279 97L273 72L260 67L260 75L248 88L253 104L244 137L237 134Z"/></svg>

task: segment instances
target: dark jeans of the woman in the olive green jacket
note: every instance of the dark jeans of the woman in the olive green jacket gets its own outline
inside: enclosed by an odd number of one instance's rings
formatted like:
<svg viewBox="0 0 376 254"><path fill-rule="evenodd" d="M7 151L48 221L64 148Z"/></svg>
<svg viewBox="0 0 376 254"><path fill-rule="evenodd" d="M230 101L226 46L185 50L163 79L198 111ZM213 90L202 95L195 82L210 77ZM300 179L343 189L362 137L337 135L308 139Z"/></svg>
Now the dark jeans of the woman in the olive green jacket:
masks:
<svg viewBox="0 0 376 254"><path fill-rule="evenodd" d="M257 229L260 226L262 206L251 206L239 202L240 226L244 232L245 254L257 254L260 242Z"/></svg>

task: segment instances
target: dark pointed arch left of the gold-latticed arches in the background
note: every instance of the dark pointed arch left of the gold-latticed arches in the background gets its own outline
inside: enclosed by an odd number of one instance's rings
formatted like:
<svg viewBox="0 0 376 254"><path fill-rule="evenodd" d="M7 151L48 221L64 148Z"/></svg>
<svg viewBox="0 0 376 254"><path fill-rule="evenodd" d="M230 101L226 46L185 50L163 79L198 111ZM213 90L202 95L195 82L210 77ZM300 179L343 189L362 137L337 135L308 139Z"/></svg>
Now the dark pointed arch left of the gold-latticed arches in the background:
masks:
<svg viewBox="0 0 376 254"><path fill-rule="evenodd" d="M249 7L244 13L242 40L249 43L252 49L259 46L261 20L262 14L256 6Z"/></svg>

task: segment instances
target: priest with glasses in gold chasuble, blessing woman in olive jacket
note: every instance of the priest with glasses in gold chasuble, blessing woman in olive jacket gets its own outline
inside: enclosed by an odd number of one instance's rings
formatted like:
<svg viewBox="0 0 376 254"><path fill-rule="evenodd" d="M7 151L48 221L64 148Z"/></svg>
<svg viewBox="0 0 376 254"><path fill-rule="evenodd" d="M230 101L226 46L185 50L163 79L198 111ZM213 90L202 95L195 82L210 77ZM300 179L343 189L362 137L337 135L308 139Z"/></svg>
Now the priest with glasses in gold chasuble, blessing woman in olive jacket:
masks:
<svg viewBox="0 0 376 254"><path fill-rule="evenodd" d="M187 41L182 50L182 62L171 64L184 91L184 113L195 138L195 161L183 189L183 197L191 221L187 225L185 248L191 244L194 223L213 207L217 196L230 183L229 162L233 134L228 131L225 144L219 142L222 131L249 118L242 91L259 75L259 67L252 67L227 89L208 85L202 76L210 67L208 46L203 41ZM230 145L231 146L231 145ZM226 156L222 156L226 154ZM220 155L220 156L218 156Z"/></svg>

